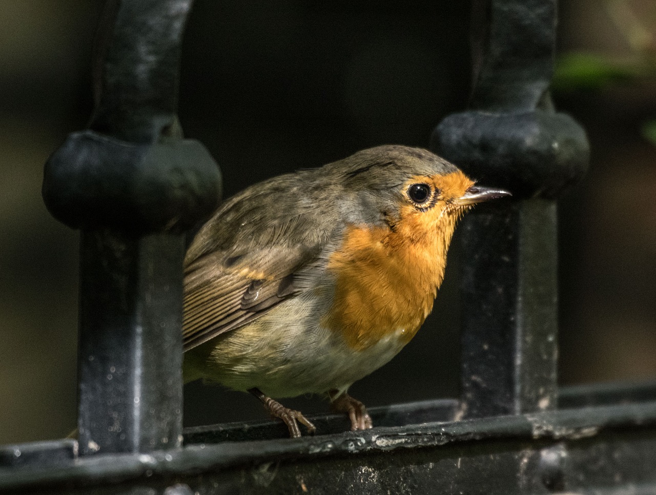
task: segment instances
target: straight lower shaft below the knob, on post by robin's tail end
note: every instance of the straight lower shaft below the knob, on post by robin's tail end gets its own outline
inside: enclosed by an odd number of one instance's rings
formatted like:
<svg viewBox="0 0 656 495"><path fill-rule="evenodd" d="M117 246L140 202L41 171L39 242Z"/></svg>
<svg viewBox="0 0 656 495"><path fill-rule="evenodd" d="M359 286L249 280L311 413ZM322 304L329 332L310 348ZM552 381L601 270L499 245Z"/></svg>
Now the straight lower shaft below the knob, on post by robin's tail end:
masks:
<svg viewBox="0 0 656 495"><path fill-rule="evenodd" d="M180 235L85 230L81 239L79 446L180 445Z"/></svg>

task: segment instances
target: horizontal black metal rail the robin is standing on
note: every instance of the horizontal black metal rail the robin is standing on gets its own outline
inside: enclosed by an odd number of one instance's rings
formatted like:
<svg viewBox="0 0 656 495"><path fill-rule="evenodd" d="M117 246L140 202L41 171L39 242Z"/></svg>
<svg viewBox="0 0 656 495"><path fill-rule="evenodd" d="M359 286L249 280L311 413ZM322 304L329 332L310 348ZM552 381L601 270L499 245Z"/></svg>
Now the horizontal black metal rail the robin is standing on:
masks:
<svg viewBox="0 0 656 495"><path fill-rule="evenodd" d="M288 470L302 476L307 484L319 483L318 473L325 463L354 470L372 462L379 465L377 472L392 489L400 488L393 483L395 473L401 476L409 469L424 469L435 458L447 464L459 462L462 488L471 490L466 483L477 479L483 483L482 473L491 466L499 467L498 463L510 462L507 456L511 454L515 460L537 463L522 471L527 485L541 486L546 476L552 480L549 483L575 489L581 486L577 476L590 471L577 467L586 459L605 465L598 473L585 474L588 488L595 483L607 485L602 482L608 469L622 477L609 486L656 483L656 469L626 478L637 469L632 464L637 452L646 454L649 448L656 448L656 384L571 387L563 389L561 397L558 410L459 421L454 420L459 405L453 400L373 408L371 412L382 426L359 432L337 433L344 427L344 418L339 415L315 416L312 420L322 434L300 439L285 438L284 427L276 422L195 427L186 430L183 448L149 454L79 457L73 440L4 446L0 448L0 490L26 493L45 487L65 486L70 490L113 485L123 491L129 486L156 487L184 481L192 492L202 493L212 490L199 487L198 473L203 473L203 483L216 477L223 486L244 488L256 486L258 469L266 471L271 465L278 466L277 474ZM618 399L619 403L612 403ZM582 407L583 403L586 405ZM270 439L273 435L277 439ZM617 450L616 444L625 446L624 450ZM394 452L394 456L380 460L374 455L382 452ZM480 452L491 456L485 458L490 464L483 471L480 464L471 463ZM653 468L656 460L647 456L639 465ZM277 474L269 473L272 482ZM438 483L434 486L447 483L453 488L444 492L457 488L455 481L439 471L426 478L429 482ZM359 486L370 490L375 484ZM507 493L522 492L520 485L514 491L512 486L507 488Z"/></svg>

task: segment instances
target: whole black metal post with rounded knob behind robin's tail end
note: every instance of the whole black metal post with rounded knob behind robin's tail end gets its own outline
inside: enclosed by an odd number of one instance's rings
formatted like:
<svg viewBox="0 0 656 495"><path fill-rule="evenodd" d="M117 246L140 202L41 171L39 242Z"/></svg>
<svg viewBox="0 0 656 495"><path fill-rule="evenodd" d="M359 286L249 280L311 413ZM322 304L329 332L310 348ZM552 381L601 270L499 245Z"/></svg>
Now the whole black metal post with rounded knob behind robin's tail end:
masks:
<svg viewBox="0 0 656 495"><path fill-rule="evenodd" d="M215 207L216 163L182 139L180 43L191 0L108 0L96 106L45 167L51 213L81 228L79 452L182 441L184 231Z"/></svg>

